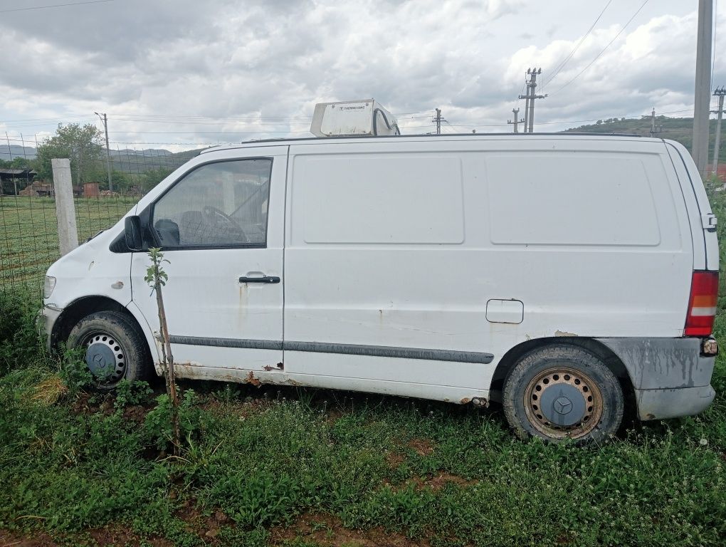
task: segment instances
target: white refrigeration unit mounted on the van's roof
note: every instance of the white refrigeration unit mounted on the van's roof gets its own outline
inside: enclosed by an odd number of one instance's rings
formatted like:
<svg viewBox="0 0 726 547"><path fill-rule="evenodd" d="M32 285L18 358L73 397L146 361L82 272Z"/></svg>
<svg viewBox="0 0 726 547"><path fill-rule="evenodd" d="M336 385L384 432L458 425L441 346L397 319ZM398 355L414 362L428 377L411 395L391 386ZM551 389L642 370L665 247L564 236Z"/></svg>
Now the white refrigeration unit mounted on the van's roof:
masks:
<svg viewBox="0 0 726 547"><path fill-rule="evenodd" d="M319 102L310 132L316 137L401 134L396 118L373 99Z"/></svg>

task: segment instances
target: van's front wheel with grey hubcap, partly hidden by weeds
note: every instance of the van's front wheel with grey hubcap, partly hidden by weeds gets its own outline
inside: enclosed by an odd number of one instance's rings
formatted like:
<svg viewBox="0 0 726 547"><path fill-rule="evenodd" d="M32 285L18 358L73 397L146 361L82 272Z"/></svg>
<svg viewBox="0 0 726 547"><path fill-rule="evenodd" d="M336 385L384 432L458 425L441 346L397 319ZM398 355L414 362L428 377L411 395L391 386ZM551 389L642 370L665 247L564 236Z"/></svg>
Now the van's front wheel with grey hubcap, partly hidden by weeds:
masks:
<svg viewBox="0 0 726 547"><path fill-rule="evenodd" d="M121 313L86 315L70 331L67 345L70 349L88 348L83 358L99 391L113 391L122 379L145 380L148 376L146 342L136 325Z"/></svg>

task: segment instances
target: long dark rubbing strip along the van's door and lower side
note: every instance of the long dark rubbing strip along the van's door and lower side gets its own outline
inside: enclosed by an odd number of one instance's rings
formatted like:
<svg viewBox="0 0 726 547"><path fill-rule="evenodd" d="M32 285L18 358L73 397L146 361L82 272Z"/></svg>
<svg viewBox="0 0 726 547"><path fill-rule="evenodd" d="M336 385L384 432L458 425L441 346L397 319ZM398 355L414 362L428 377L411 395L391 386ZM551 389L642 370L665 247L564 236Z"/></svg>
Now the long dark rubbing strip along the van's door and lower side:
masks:
<svg viewBox="0 0 726 547"><path fill-rule="evenodd" d="M364 346L359 344L327 344L325 342L295 342L277 340L245 340L205 338L200 336L169 336L172 344L187 346L238 347L243 349L283 349L288 352L337 353L368 355L370 357L398 357L431 361L481 362L494 360L491 353L455 352L450 349L423 349L417 347Z"/></svg>

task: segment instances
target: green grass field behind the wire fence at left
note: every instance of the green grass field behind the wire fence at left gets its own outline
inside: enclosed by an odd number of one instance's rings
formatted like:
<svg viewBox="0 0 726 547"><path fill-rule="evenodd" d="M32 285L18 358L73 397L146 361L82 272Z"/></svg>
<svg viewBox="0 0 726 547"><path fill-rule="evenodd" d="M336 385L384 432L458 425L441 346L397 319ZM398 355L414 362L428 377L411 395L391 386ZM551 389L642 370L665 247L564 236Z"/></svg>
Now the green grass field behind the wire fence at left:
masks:
<svg viewBox="0 0 726 547"><path fill-rule="evenodd" d="M77 198L78 241L113 226L138 198ZM40 283L60 258L53 198L0 197L0 286Z"/></svg>

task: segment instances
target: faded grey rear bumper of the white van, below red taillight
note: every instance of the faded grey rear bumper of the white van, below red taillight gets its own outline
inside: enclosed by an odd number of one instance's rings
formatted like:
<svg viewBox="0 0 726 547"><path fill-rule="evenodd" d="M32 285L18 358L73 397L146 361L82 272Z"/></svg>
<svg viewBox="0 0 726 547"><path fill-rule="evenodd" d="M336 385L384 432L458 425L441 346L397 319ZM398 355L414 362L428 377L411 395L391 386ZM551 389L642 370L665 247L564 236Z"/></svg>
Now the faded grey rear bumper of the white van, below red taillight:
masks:
<svg viewBox="0 0 726 547"><path fill-rule="evenodd" d="M716 357L701 354L699 338L599 339L625 365L641 420L692 416L714 400Z"/></svg>

